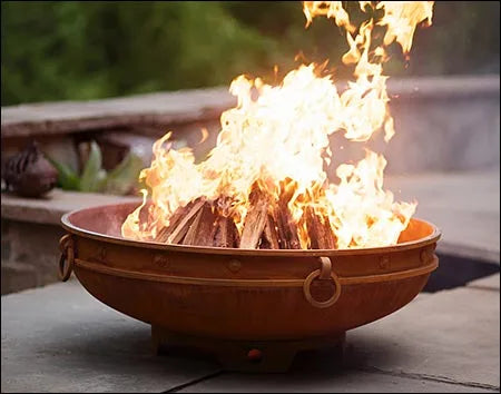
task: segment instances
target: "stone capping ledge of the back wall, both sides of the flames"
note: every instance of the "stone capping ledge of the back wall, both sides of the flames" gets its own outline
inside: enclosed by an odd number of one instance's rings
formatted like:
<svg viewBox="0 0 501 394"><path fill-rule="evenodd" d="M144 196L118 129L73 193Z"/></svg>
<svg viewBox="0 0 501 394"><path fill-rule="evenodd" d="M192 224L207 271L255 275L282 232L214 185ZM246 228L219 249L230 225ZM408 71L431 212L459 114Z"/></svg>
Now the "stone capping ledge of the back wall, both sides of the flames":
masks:
<svg viewBox="0 0 501 394"><path fill-rule="evenodd" d="M389 80L391 96L399 99L499 97L499 75ZM1 137L68 134L135 125L185 124L217 118L223 110L235 104L227 87L217 87L91 101L2 107Z"/></svg>

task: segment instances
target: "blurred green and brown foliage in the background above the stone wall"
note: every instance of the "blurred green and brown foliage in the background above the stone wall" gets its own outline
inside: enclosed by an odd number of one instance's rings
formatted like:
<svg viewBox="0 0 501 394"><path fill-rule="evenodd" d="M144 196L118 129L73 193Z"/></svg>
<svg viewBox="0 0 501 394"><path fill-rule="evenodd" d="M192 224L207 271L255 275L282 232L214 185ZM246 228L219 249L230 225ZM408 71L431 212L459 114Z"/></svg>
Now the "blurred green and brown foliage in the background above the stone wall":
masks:
<svg viewBox="0 0 501 394"><path fill-rule="evenodd" d="M394 51L387 72L499 72L499 8L436 2L410 65ZM2 106L227 86L240 73L273 82L273 66L282 77L299 52L336 66L347 48L331 20L305 30L299 1L2 1L1 11Z"/></svg>

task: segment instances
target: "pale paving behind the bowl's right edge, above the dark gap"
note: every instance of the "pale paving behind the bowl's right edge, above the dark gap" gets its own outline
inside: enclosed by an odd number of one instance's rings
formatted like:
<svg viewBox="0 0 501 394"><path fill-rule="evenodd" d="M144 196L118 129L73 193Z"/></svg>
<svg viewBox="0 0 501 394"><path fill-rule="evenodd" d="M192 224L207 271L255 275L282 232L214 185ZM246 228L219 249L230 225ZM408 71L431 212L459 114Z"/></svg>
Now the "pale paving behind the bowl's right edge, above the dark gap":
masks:
<svg viewBox="0 0 501 394"><path fill-rule="evenodd" d="M393 176L385 187L397 200L418 200L415 216L443 233L439 252L499 264L499 170Z"/></svg>

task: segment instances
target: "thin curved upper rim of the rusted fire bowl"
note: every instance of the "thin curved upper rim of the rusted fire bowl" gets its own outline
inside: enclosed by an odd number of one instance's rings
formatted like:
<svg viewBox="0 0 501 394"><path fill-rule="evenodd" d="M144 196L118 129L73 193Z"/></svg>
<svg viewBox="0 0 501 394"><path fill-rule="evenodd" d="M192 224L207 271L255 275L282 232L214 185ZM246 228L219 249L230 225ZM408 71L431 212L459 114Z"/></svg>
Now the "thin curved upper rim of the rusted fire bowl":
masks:
<svg viewBox="0 0 501 394"><path fill-rule="evenodd" d="M81 236L84 238L97 239L111 244L119 244L125 246L139 247L145 249L157 250L170 250L183 253L197 253L197 254L215 254L215 255L232 255L232 256L276 256L276 257L321 257L321 256L356 256L356 255L370 255L381 253L397 253L407 249L421 248L425 245L435 244L442 236L442 232L434 224L419 219L416 217L411 218L411 221L419 221L431 227L430 235L416 239L410 240L396 245L379 246L371 248L353 248L353 249L240 249L240 248L222 248L215 246L191 246L191 245L175 245L175 244L160 244L145 240L126 239L108 234L91 232L76 226L71 223L71 216L88 209L106 209L124 205L134 205L132 203L119 203L119 204L106 204L96 205L86 208L73 209L61 217L61 226L68 233Z"/></svg>

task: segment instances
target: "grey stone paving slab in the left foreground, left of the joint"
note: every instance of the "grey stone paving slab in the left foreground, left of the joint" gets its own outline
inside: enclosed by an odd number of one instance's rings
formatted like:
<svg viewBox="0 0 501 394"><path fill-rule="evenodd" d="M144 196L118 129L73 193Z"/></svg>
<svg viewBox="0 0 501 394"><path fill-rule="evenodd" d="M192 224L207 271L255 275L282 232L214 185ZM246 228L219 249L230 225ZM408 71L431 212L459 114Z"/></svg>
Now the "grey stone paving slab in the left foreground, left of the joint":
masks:
<svg viewBox="0 0 501 394"><path fill-rule="evenodd" d="M1 392L163 392L218 371L153 355L149 326L79 283L2 296Z"/></svg>

